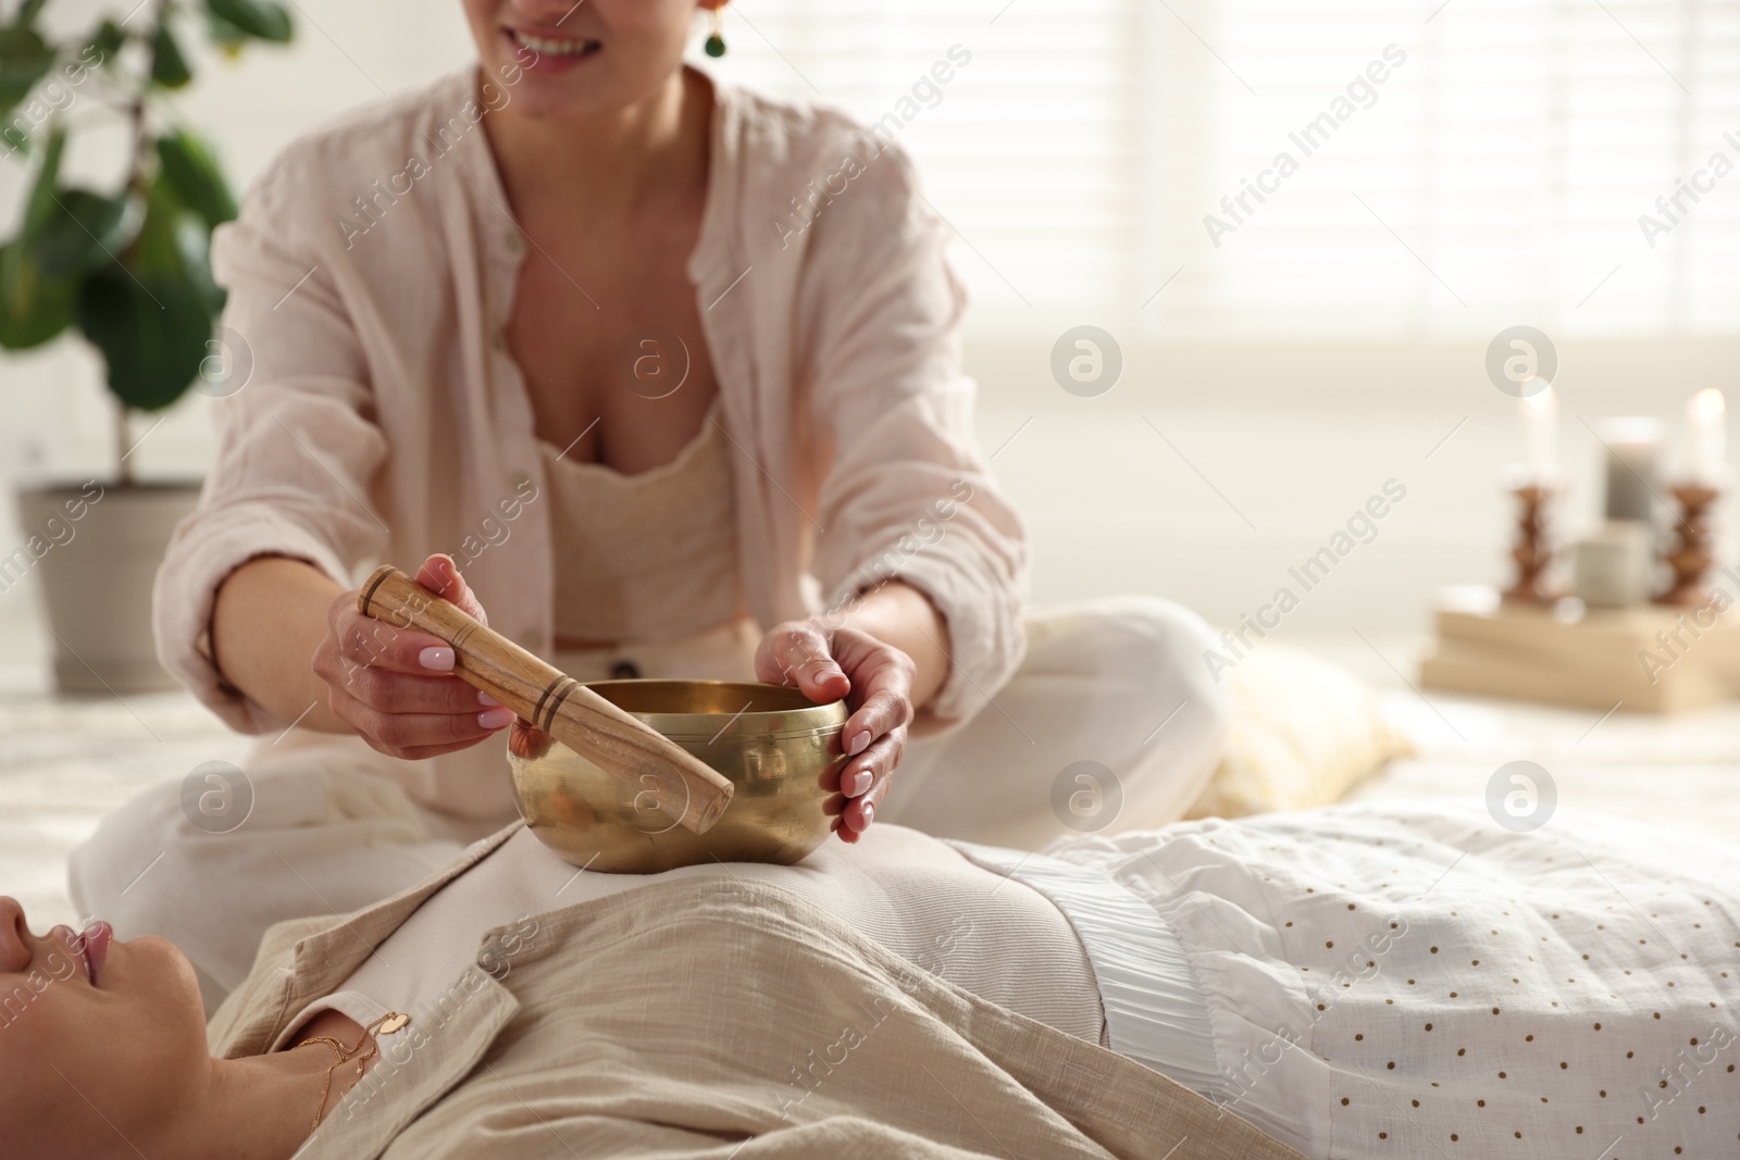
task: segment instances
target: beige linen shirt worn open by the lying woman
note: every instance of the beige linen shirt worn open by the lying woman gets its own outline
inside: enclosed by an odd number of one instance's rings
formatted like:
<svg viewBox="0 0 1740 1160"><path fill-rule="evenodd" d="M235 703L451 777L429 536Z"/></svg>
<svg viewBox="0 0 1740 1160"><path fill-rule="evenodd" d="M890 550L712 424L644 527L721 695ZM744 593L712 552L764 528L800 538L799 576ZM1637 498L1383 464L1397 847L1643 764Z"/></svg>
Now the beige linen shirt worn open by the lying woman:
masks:
<svg viewBox="0 0 1740 1160"><path fill-rule="evenodd" d="M369 910L273 927L212 1052L266 1050L512 833ZM1300 1160L767 882L666 882L498 927L449 995L381 1038L299 1160Z"/></svg>

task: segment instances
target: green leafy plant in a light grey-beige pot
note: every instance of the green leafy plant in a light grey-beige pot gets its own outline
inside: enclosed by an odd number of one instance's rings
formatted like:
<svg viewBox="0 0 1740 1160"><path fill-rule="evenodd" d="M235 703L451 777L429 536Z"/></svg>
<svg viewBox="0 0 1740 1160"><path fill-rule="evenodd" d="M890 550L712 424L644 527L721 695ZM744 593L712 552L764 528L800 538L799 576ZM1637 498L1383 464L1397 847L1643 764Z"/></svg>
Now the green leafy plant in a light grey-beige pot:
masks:
<svg viewBox="0 0 1740 1160"><path fill-rule="evenodd" d="M237 214L211 146L167 115L165 94L193 80L184 37L228 54L287 43L275 0L146 0L54 40L23 0L0 23L0 155L35 174L12 237L0 242L0 348L42 346L77 329L106 367L117 400L108 480L21 487L24 541L0 546L0 593L38 576L56 637L63 690L137 690L171 683L151 643L150 593L169 536L198 483L143 483L129 463L130 417L171 407L188 388L226 395L245 383L245 353L214 339L223 290L211 233ZM200 31L202 30L202 31ZM71 118L99 110L127 127L117 188L64 181Z"/></svg>

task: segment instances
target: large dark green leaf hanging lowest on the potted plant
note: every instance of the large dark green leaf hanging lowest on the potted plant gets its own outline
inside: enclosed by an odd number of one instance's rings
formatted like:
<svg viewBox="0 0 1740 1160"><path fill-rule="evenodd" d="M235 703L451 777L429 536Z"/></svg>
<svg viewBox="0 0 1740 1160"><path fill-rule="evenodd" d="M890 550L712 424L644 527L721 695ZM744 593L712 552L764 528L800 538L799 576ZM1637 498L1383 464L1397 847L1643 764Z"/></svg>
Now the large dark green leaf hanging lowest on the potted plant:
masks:
<svg viewBox="0 0 1740 1160"><path fill-rule="evenodd" d="M129 407L160 410L193 384L212 317L186 275L101 266L78 290L78 329L103 351L110 390Z"/></svg>

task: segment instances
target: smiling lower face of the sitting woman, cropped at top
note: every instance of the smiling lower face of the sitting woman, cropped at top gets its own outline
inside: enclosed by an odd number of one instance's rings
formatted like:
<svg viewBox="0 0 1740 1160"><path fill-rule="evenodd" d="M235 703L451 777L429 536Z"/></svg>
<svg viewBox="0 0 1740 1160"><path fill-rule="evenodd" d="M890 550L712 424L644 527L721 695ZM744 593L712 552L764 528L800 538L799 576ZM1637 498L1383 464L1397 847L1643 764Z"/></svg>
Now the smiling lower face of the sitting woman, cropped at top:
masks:
<svg viewBox="0 0 1740 1160"><path fill-rule="evenodd" d="M646 99L682 59L694 12L696 0L465 0L485 77L522 70L501 90L529 117L599 117Z"/></svg>

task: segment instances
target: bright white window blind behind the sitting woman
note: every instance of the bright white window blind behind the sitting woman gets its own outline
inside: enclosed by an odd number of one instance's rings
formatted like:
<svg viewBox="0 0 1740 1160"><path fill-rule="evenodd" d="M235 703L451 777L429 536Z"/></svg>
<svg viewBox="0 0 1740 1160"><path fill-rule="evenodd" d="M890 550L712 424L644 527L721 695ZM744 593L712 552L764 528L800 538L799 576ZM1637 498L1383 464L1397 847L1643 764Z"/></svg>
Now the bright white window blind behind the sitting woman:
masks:
<svg viewBox="0 0 1740 1160"><path fill-rule="evenodd" d="M731 80L917 104L900 137L980 332L1740 327L1735 3L736 0L726 35Z"/></svg>

